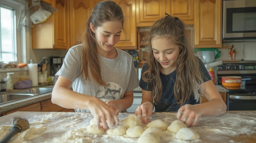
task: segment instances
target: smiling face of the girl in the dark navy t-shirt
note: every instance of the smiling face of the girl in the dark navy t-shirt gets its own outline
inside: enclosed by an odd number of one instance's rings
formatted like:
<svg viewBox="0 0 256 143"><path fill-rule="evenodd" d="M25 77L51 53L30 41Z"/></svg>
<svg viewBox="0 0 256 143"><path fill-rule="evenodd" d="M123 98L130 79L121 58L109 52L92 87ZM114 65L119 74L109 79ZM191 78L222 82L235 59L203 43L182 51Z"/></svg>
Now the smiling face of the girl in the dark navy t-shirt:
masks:
<svg viewBox="0 0 256 143"><path fill-rule="evenodd" d="M155 59L163 68L164 74L169 74L176 69L176 61L180 55L180 48L172 44L167 37L154 37L151 40Z"/></svg>

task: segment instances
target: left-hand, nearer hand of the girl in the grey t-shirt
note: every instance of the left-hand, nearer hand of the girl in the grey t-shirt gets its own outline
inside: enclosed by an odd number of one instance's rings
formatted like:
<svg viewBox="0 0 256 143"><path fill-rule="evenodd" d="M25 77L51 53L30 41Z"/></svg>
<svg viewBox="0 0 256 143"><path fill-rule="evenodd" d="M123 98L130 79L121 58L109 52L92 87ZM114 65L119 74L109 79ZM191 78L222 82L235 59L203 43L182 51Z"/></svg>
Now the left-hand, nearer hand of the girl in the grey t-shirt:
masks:
<svg viewBox="0 0 256 143"><path fill-rule="evenodd" d="M100 123L104 129L108 129L116 126L119 122L115 111L98 98L94 98L94 101L90 102L89 110L92 116L96 118L98 128L101 127Z"/></svg>

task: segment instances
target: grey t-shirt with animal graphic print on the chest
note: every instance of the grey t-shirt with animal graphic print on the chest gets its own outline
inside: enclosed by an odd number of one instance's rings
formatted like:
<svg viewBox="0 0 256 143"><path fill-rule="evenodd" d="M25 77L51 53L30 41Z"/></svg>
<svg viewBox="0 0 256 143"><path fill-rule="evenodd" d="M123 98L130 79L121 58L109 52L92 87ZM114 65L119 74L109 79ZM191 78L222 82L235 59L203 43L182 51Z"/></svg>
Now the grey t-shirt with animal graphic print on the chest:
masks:
<svg viewBox="0 0 256 143"><path fill-rule="evenodd" d="M73 46L68 50L61 69L55 75L69 79L75 92L98 97L103 101L121 99L124 92L139 86L139 79L132 56L118 48L116 50L118 56L115 59L108 59L99 55L101 77L108 84L108 87L100 86L91 75L89 75L90 80L85 80L83 75L79 75L83 57L82 44ZM75 109L75 111L88 112L88 110L80 109Z"/></svg>

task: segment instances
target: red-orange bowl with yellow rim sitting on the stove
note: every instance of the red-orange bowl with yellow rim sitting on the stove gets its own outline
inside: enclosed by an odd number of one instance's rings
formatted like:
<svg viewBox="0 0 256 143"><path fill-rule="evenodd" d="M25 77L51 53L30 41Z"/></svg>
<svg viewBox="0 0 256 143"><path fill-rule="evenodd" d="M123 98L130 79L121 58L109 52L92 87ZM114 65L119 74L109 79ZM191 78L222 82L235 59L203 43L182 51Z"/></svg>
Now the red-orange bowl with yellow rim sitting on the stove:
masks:
<svg viewBox="0 0 256 143"><path fill-rule="evenodd" d="M238 87L241 85L242 77L239 76L223 76L221 77L221 83L227 87Z"/></svg>

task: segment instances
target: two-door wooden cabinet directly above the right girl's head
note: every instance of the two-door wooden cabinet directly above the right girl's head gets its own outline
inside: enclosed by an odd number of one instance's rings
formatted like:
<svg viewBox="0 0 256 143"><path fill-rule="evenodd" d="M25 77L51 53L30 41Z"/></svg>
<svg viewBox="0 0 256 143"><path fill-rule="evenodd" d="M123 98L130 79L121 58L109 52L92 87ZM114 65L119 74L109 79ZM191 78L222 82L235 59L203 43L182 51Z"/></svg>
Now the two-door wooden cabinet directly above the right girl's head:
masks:
<svg viewBox="0 0 256 143"><path fill-rule="evenodd" d="M194 0L136 0L137 26L152 26L164 13L193 24Z"/></svg>

